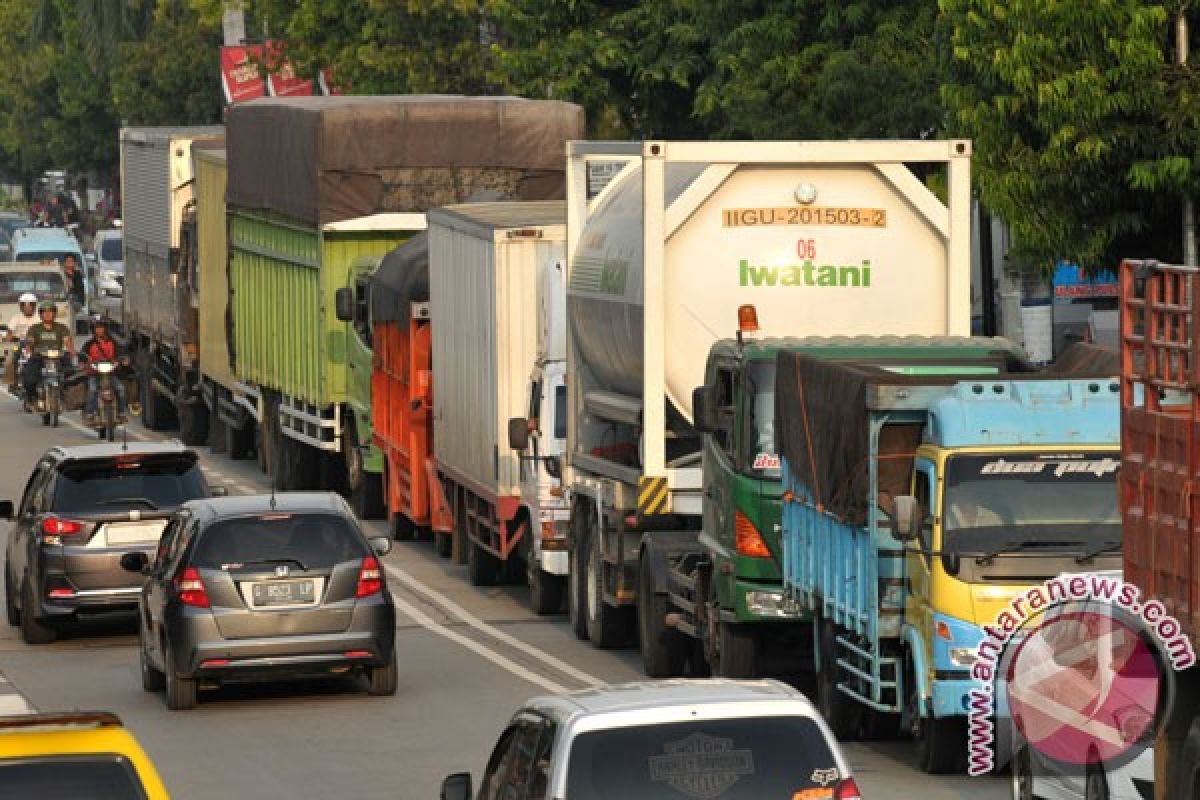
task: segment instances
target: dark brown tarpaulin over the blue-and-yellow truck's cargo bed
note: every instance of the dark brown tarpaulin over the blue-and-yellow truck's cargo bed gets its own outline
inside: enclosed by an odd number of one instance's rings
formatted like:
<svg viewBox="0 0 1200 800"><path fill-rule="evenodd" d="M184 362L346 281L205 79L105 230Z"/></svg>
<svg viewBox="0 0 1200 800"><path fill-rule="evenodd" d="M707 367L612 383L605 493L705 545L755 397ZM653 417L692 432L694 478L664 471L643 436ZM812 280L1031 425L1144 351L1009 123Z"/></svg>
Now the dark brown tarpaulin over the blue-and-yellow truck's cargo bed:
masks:
<svg viewBox="0 0 1200 800"><path fill-rule="evenodd" d="M1040 372L1026 372L1027 365L1002 359L1002 363L1008 362L1002 374L1020 380L1112 375L1111 365L1094 350L1100 348L1085 345L1056 367ZM988 361L995 363L991 359ZM816 504L852 524L865 524L870 493L869 387L949 386L965 379L970 377L906 375L871 363L835 362L780 351L775 371L776 451L787 459L797 480L812 492ZM886 428L881 435L881 494L906 494L920 426L888 427L895 429ZM876 499L884 507L888 500L887 497Z"/></svg>

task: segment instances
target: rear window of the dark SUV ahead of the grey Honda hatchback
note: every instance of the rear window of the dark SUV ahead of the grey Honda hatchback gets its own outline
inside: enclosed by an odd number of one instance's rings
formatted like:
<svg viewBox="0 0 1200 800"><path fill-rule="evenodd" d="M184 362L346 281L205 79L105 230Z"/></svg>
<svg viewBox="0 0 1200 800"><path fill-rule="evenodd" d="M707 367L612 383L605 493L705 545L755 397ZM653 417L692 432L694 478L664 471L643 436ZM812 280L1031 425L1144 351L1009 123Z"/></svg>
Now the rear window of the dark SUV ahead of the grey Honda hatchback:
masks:
<svg viewBox="0 0 1200 800"><path fill-rule="evenodd" d="M59 471L54 511L163 511L206 495L204 475L192 458L89 461Z"/></svg>

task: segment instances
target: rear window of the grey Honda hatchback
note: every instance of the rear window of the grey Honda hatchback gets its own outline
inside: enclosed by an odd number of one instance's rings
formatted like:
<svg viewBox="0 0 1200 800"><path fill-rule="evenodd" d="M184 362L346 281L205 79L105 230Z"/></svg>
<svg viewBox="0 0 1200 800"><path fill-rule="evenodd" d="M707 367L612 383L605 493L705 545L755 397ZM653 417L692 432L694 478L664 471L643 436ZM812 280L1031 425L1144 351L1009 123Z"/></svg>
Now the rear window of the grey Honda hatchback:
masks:
<svg viewBox="0 0 1200 800"><path fill-rule="evenodd" d="M305 570L370 555L358 529L334 513L263 513L217 522L200 534L192 564L239 569L287 559Z"/></svg>

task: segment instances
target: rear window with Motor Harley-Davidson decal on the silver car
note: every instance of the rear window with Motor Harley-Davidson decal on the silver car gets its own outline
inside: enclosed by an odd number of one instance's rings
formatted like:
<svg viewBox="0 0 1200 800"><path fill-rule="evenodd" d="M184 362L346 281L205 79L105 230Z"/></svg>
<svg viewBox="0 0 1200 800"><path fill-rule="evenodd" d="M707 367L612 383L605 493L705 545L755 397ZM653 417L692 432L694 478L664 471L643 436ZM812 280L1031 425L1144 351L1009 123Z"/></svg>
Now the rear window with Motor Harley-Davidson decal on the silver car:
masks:
<svg viewBox="0 0 1200 800"><path fill-rule="evenodd" d="M566 766L571 800L761 800L808 789L832 798L846 777L821 728L802 716L594 730L576 736Z"/></svg>

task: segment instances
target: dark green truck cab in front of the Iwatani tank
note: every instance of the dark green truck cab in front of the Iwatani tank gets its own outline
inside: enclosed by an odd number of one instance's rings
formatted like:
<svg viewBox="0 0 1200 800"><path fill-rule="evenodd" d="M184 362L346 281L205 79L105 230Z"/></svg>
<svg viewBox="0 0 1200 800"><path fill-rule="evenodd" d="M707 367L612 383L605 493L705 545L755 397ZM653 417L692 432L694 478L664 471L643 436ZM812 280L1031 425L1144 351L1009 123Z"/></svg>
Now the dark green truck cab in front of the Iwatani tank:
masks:
<svg viewBox="0 0 1200 800"><path fill-rule="evenodd" d="M721 339L696 390L703 432L702 529L641 543L643 666L650 676L793 675L811 668L811 619L784 593L784 498L775 450L781 351L869 361L905 374L994 374L1020 354L1002 339L941 337ZM655 604L655 608L650 608ZM653 621L662 620L654 626Z"/></svg>

